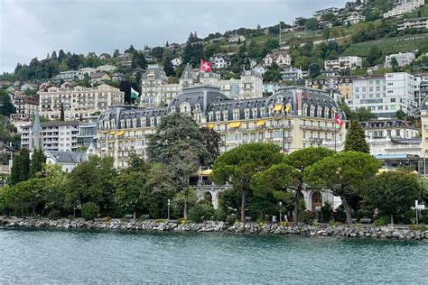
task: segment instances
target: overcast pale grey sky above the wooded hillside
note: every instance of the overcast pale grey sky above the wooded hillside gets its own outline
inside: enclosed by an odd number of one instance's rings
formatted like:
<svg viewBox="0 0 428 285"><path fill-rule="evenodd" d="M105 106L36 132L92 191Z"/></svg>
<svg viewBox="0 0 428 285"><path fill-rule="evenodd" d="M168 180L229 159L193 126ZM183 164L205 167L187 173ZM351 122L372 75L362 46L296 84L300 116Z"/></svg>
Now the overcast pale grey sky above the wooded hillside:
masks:
<svg viewBox="0 0 428 285"><path fill-rule="evenodd" d="M0 73L51 51L112 54L240 27L292 23L347 0L0 0Z"/></svg>

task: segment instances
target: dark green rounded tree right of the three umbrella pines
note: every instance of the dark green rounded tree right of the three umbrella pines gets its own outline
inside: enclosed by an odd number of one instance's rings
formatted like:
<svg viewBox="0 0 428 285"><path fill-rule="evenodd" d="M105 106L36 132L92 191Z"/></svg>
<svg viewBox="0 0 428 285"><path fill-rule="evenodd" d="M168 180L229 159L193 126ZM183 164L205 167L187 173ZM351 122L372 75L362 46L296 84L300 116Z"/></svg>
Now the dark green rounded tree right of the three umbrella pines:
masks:
<svg viewBox="0 0 428 285"><path fill-rule="evenodd" d="M423 189L417 176L405 171L387 171L368 180L362 190L363 206L376 209L379 216L402 216L420 198Z"/></svg>

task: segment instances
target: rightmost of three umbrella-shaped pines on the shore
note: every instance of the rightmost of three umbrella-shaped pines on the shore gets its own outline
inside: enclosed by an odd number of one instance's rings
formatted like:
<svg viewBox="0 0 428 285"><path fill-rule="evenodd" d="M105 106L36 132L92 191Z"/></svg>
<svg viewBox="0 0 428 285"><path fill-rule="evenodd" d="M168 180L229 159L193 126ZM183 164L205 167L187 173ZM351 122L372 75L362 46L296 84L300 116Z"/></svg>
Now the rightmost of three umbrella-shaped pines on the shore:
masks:
<svg viewBox="0 0 428 285"><path fill-rule="evenodd" d="M348 199L358 193L365 180L373 178L381 163L375 157L362 152L339 152L318 161L304 172L311 187L329 189L340 197L345 208L346 221L352 224Z"/></svg>

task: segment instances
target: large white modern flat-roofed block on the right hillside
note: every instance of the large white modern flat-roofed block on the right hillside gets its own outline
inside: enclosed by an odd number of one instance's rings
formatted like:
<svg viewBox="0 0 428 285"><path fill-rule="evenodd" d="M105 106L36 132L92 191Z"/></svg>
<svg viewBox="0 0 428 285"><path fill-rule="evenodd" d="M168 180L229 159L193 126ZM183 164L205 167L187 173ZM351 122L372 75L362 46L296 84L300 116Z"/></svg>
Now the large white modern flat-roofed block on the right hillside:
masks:
<svg viewBox="0 0 428 285"><path fill-rule="evenodd" d="M395 117L398 110L412 115L417 106L414 76L395 72L380 77L354 78L352 97L346 99L346 103L352 110L365 107L378 117Z"/></svg>

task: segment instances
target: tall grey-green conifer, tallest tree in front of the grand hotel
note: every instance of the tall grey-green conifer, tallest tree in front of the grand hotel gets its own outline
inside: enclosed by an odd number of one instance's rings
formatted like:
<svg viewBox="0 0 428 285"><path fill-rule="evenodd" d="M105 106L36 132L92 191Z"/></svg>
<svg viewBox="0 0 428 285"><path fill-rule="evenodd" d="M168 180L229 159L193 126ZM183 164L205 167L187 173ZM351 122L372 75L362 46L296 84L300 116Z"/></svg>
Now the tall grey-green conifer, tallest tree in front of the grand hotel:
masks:
<svg viewBox="0 0 428 285"><path fill-rule="evenodd" d="M189 177L197 172L207 155L199 126L188 115L168 115L148 140L149 160L165 164L172 173L177 191L184 193L183 216L187 219Z"/></svg>

